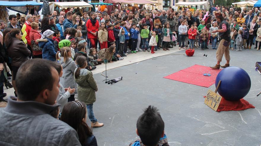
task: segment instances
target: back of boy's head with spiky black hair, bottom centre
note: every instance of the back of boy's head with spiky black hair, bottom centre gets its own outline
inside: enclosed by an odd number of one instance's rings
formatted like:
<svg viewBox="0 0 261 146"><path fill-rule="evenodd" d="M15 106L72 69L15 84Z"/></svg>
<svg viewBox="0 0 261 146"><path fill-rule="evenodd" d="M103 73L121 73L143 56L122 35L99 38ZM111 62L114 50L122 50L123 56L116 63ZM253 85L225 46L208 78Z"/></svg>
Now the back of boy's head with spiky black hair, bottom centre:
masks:
<svg viewBox="0 0 261 146"><path fill-rule="evenodd" d="M154 106L149 106L137 121L137 131L144 145L157 145L164 131L164 122Z"/></svg>

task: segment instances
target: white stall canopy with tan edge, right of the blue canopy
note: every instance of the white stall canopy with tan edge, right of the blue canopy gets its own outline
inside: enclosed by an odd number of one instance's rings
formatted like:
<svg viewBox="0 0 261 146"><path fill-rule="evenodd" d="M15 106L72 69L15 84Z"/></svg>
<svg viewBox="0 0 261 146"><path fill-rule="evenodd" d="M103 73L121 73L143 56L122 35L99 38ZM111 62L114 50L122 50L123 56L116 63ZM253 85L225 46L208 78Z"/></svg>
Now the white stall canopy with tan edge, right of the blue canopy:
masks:
<svg viewBox="0 0 261 146"><path fill-rule="evenodd" d="M86 3L85 1L72 1L72 2L49 2L50 12L54 11L55 6L60 7L61 9L70 8L70 7L93 7L91 4Z"/></svg>

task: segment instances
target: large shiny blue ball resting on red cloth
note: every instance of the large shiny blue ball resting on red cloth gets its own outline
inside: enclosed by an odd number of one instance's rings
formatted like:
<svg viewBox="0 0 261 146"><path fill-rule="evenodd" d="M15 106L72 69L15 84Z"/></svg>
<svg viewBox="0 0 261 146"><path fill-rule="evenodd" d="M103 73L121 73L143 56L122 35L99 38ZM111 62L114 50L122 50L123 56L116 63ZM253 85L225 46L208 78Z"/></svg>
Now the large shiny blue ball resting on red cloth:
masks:
<svg viewBox="0 0 261 146"><path fill-rule="evenodd" d="M251 87L249 75L242 68L231 66L219 72L215 85L221 80L217 90L220 96L230 101L236 101L246 96Z"/></svg>

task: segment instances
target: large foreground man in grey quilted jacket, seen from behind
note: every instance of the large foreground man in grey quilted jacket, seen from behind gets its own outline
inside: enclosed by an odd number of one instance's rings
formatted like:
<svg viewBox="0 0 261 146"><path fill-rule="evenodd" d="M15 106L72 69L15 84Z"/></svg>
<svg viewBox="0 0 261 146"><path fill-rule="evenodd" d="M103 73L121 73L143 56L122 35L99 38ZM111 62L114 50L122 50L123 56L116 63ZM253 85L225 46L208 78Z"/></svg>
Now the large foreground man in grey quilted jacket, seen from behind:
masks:
<svg viewBox="0 0 261 146"><path fill-rule="evenodd" d="M50 116L58 108L59 76L54 63L31 59L17 72L18 98L8 98L0 111L1 145L63 146L81 145L77 132L68 124Z"/></svg>

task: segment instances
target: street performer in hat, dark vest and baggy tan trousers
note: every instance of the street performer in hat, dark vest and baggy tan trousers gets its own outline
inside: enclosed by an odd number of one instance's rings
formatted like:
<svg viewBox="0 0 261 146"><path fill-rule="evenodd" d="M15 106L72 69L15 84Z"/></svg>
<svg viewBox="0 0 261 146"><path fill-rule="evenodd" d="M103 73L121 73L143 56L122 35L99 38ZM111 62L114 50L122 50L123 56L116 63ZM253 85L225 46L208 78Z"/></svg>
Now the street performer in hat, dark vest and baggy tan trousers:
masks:
<svg viewBox="0 0 261 146"><path fill-rule="evenodd" d="M222 61L223 54L225 54L225 59L227 63L221 67L226 68L229 67L229 61L230 61L230 55L229 55L229 46L230 46L230 29L229 29L229 24L226 22L226 20L223 19L222 14L216 12L216 19L217 22L219 23L219 29L214 30L213 33L219 32L220 36L220 42L217 48L217 64L215 66L212 66L210 68L212 69L219 69L220 68L220 62Z"/></svg>

